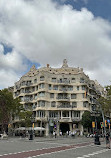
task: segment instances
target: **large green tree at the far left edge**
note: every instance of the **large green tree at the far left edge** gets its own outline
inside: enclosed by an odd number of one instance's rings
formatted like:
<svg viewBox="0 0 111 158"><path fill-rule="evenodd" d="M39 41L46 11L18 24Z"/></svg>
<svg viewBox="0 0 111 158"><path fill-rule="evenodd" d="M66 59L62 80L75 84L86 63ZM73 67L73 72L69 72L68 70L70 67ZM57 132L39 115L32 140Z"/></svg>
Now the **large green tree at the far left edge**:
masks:
<svg viewBox="0 0 111 158"><path fill-rule="evenodd" d="M3 131L6 131L10 118L20 113L22 106L18 98L14 99L8 89L0 90L0 123Z"/></svg>

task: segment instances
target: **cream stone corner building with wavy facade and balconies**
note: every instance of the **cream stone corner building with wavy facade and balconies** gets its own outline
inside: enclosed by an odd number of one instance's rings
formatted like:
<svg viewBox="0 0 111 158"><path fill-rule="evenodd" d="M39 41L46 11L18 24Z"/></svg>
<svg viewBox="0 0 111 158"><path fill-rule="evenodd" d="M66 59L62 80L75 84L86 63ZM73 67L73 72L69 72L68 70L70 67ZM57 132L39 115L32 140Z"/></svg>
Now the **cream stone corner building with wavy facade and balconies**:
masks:
<svg viewBox="0 0 111 158"><path fill-rule="evenodd" d="M14 86L14 97L21 99L26 110L33 110L35 127L44 127L45 135L53 130L57 134L83 132L82 114L93 111L95 100L103 94L100 84L90 80L82 68L68 67L66 59L61 68L32 66Z"/></svg>

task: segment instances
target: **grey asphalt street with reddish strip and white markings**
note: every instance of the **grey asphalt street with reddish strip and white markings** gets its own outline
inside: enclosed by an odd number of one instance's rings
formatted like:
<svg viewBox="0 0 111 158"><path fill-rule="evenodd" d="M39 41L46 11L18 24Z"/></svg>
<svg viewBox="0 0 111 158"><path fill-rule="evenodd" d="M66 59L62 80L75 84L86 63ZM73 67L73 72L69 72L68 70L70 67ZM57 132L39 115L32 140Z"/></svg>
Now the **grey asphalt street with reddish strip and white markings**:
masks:
<svg viewBox="0 0 111 158"><path fill-rule="evenodd" d="M101 139L103 140L103 139ZM94 145L94 138L9 138L0 140L0 158L110 158L105 142Z"/></svg>

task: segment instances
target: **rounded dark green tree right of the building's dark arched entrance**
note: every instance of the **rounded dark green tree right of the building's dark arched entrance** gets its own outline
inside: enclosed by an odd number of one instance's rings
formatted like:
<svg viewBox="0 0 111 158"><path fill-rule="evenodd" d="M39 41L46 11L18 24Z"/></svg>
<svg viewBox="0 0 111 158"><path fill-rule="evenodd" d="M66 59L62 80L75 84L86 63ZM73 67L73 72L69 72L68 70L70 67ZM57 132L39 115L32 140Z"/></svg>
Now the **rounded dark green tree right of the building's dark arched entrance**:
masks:
<svg viewBox="0 0 111 158"><path fill-rule="evenodd" d="M84 128L89 128L92 126L92 116L89 111L85 111L82 115L82 125Z"/></svg>

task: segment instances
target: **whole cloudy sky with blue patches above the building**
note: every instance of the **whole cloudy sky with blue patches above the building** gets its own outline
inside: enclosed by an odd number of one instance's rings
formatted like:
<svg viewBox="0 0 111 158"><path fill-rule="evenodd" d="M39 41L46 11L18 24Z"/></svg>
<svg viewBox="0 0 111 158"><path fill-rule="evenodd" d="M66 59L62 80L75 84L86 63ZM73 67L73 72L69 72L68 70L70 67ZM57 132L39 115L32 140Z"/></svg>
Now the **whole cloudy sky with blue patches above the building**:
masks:
<svg viewBox="0 0 111 158"><path fill-rule="evenodd" d="M0 89L33 64L60 67L64 58L108 85L110 50L110 0L0 1Z"/></svg>

